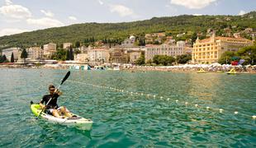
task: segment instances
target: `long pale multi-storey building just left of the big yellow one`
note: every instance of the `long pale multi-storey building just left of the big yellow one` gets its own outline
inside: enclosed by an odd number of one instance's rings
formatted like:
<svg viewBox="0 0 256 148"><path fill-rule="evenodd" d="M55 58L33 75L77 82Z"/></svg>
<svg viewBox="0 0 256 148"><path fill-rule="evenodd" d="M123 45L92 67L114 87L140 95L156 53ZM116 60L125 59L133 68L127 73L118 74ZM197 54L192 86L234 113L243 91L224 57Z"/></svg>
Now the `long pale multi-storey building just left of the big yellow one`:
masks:
<svg viewBox="0 0 256 148"><path fill-rule="evenodd" d="M153 60L155 55L168 55L172 57L177 57L178 55L185 54L184 49L185 49L184 41L178 41L176 45L150 44L150 45L147 45L145 49L145 61L148 61L149 59Z"/></svg>

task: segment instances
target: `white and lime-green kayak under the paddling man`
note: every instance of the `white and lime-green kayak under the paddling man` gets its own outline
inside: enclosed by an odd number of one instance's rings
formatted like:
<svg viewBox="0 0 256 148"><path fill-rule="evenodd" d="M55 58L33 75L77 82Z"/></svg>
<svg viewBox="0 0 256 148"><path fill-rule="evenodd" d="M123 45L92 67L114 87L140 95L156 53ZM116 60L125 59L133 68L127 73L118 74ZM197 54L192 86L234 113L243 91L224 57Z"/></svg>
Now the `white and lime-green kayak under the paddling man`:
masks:
<svg viewBox="0 0 256 148"><path fill-rule="evenodd" d="M31 103L31 111L36 115L36 117L40 114L42 109L40 108L40 104L32 104ZM74 126L81 130L91 130L92 129L92 120L83 118L78 116L77 114L73 114L73 117L64 117L64 118L56 118L55 116L52 116L50 114L42 112L40 114L41 118L45 118L53 123L60 123L64 125Z"/></svg>

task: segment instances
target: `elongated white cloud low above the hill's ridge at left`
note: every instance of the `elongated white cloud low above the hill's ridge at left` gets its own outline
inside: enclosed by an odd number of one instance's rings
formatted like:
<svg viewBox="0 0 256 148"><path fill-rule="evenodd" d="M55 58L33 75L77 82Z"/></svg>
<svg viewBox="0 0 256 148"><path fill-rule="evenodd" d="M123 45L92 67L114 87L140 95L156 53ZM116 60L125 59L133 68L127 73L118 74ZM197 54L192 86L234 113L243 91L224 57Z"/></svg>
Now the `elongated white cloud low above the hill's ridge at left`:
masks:
<svg viewBox="0 0 256 148"><path fill-rule="evenodd" d="M48 18L48 17L44 17L44 18L40 18L40 19L27 19L26 20L27 24L29 25L40 25L40 26L44 26L44 27L59 27L59 26L63 26L64 23L62 23L61 21L52 19L52 18Z"/></svg>

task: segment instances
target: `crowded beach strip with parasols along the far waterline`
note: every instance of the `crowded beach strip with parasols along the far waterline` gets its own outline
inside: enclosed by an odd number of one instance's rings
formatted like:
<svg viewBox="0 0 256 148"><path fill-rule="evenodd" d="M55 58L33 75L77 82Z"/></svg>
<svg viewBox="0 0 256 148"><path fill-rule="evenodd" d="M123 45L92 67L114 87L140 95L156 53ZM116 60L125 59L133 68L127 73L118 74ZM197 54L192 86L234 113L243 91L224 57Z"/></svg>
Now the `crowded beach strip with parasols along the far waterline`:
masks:
<svg viewBox="0 0 256 148"><path fill-rule="evenodd" d="M81 67L79 64L75 64L76 66ZM74 64L45 64L41 66L31 66L31 65L0 65L0 68L46 68L46 69L69 69L74 66ZM120 70L123 71L158 71L158 72L198 72L199 70L203 70L205 72L230 72L230 70L234 68L235 72L238 73L256 73L256 65L251 66L231 66L229 64L220 65L218 63L214 64L195 64L195 65L178 65L178 66L127 66L121 65Z"/></svg>

